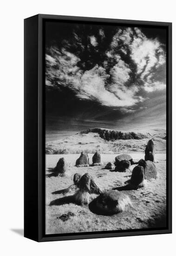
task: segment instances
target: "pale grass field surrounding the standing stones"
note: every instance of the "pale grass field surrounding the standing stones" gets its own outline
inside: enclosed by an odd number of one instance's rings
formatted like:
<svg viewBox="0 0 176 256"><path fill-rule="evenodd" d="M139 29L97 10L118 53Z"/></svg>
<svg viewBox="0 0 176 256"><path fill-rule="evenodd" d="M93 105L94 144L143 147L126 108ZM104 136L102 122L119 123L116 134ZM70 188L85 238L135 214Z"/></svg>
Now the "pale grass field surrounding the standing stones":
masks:
<svg viewBox="0 0 176 256"><path fill-rule="evenodd" d="M144 157L143 153L130 152L134 161ZM114 162L114 154L102 154L103 166L75 167L79 154L46 155L46 174L48 169L54 168L60 157L64 157L69 165L66 176L46 177L46 234L91 232L101 230L143 229L163 227L166 214L166 154L156 154L156 168L159 179L147 182L146 187L122 191L130 196L132 205L124 212L113 216L97 215L89 209L89 206L78 206L74 203L49 206L52 200L65 195L52 195L52 192L65 189L73 184L73 175L77 172L81 175L86 172L91 174L98 187L112 189L123 186L130 179L131 170L126 173L111 172L103 169L107 162ZM92 154L89 154L90 163ZM134 166L132 166L134 168ZM73 195L74 191L66 194ZM69 213L70 212L70 213ZM60 216L68 214L63 221Z"/></svg>

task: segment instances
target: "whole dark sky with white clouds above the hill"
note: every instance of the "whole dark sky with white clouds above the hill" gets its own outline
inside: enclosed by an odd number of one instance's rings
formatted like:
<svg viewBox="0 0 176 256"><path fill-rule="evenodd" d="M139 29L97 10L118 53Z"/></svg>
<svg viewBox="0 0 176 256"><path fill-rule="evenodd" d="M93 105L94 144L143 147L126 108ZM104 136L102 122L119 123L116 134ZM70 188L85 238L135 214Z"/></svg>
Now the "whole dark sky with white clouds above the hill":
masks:
<svg viewBox="0 0 176 256"><path fill-rule="evenodd" d="M166 30L46 22L46 135L166 127Z"/></svg>

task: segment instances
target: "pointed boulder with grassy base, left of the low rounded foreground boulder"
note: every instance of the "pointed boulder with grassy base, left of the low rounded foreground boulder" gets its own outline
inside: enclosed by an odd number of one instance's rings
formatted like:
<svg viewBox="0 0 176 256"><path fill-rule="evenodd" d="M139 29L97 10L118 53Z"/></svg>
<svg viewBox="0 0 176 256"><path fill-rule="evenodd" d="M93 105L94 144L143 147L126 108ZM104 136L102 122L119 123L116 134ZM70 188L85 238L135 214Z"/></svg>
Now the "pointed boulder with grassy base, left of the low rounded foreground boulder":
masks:
<svg viewBox="0 0 176 256"><path fill-rule="evenodd" d="M74 195L75 202L78 205L89 204L100 192L92 176L85 173L78 182L78 191Z"/></svg>

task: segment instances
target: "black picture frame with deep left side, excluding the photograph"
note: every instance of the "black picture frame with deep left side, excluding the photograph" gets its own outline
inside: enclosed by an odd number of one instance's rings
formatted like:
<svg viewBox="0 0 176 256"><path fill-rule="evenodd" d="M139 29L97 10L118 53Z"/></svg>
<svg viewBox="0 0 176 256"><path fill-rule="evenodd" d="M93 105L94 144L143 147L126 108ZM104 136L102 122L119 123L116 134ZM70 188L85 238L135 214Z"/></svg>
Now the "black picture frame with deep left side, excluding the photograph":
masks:
<svg viewBox="0 0 176 256"><path fill-rule="evenodd" d="M46 20L121 24L167 29L167 227L90 233L45 235L45 72ZM115 236L140 236L172 232L172 23L38 14L24 20L25 164L24 236L38 242Z"/></svg>

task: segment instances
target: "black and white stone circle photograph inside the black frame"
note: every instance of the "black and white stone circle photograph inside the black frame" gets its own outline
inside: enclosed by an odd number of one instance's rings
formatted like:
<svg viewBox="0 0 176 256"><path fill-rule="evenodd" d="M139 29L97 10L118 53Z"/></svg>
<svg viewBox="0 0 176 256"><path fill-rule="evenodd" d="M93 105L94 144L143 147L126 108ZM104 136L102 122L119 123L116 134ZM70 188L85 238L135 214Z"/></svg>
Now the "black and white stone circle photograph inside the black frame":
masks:
<svg viewBox="0 0 176 256"><path fill-rule="evenodd" d="M166 228L166 32L46 21L46 235Z"/></svg>

